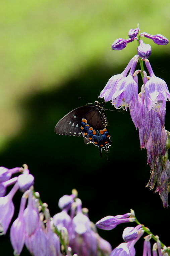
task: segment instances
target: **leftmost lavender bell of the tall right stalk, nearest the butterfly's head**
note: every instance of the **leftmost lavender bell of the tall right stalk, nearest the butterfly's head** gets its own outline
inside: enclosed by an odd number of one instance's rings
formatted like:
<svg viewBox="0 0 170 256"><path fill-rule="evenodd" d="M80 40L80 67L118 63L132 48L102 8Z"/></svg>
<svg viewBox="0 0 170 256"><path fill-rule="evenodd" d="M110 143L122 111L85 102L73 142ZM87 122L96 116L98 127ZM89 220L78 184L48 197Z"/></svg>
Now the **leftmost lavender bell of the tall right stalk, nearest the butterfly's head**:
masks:
<svg viewBox="0 0 170 256"><path fill-rule="evenodd" d="M121 74L113 75L107 82L105 88L101 91L99 98L104 98L105 101L112 100L112 96L116 91L118 82L127 75L127 72L131 68L134 58L132 58L125 70Z"/></svg>

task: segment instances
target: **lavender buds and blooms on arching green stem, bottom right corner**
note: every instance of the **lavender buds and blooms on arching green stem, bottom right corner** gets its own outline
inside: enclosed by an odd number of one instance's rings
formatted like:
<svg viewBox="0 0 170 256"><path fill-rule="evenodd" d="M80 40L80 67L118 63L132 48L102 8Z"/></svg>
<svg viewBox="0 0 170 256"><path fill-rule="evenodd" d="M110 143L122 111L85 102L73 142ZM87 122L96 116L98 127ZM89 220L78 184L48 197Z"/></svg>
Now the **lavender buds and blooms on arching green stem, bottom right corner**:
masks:
<svg viewBox="0 0 170 256"><path fill-rule="evenodd" d="M111 230L115 228L120 223L137 221L134 211L131 210L131 213L118 216L107 216L96 223L96 226L101 229ZM151 231L146 228L144 225L138 224L136 227L126 227L123 231L122 238L124 243L121 243L116 248L113 249L110 256L135 256L136 251L134 245L138 239L147 232L148 235L144 237L144 247L143 247L143 256L151 256L151 243L150 239L155 239L156 243L153 245L153 256L168 256L169 249L163 245L158 236L154 236ZM163 249L162 249L163 248ZM157 254L158 252L158 254Z"/></svg>

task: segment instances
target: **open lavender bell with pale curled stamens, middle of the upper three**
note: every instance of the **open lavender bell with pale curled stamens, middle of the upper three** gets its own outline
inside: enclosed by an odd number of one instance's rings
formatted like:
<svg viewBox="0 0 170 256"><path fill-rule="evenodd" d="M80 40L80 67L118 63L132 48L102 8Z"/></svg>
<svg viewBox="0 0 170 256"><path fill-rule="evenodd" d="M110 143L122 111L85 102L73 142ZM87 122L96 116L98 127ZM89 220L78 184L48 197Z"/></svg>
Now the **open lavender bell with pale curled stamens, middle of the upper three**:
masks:
<svg viewBox="0 0 170 256"><path fill-rule="evenodd" d="M115 108L133 107L136 99L138 98L138 85L133 79L134 69L138 61L138 55L134 57L130 72L128 76L122 78L117 84L115 93L112 96L112 105Z"/></svg>

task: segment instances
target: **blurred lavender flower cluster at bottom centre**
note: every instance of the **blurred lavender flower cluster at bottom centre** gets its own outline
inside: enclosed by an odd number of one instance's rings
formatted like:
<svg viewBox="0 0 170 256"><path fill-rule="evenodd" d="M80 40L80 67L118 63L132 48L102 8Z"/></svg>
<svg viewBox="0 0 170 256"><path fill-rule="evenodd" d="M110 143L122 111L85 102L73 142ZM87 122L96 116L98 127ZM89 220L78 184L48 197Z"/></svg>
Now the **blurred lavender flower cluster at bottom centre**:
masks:
<svg viewBox="0 0 170 256"><path fill-rule="evenodd" d="M61 212L53 216L59 231L66 228L68 245L79 256L110 255L111 245L99 236L95 224L88 217L88 210L82 209L81 200L74 194L65 195L59 200ZM68 214L69 213L69 214Z"/></svg>

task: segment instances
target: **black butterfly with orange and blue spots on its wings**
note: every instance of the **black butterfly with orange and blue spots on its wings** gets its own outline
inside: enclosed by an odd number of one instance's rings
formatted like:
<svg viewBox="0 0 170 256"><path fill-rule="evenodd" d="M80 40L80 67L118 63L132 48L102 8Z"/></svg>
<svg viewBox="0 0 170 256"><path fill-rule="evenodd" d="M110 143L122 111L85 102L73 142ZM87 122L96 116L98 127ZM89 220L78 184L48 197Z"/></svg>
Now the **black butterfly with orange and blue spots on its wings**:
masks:
<svg viewBox="0 0 170 256"><path fill-rule="evenodd" d="M84 143L92 142L107 151L112 145L107 129L107 117L103 103L95 101L95 105L78 107L64 116L55 127L55 133L62 135L83 136Z"/></svg>

